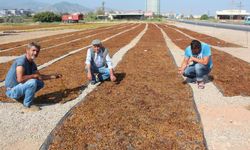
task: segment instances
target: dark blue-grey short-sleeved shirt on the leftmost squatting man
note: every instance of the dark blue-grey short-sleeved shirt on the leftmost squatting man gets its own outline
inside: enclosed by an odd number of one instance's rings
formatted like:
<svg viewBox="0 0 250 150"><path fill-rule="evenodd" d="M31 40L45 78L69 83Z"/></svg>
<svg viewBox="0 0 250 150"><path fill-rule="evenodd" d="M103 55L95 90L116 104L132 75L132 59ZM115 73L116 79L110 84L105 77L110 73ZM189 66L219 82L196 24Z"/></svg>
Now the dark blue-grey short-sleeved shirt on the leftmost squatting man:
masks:
<svg viewBox="0 0 250 150"><path fill-rule="evenodd" d="M13 88L17 84L17 76L16 76L16 68L17 66L24 67L24 75L31 75L37 71L37 66L34 62L29 62L26 56L21 56L17 58L13 64L11 65L7 76L5 78L5 87L6 88Z"/></svg>

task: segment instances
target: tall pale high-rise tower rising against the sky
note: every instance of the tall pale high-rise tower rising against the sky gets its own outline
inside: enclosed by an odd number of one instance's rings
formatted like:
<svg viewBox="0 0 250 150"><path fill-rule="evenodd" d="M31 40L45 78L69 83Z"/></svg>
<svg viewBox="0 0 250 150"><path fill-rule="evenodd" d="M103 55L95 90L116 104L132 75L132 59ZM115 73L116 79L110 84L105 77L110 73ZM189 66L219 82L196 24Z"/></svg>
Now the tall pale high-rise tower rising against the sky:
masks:
<svg viewBox="0 0 250 150"><path fill-rule="evenodd" d="M160 15L160 0L146 0L146 13Z"/></svg>

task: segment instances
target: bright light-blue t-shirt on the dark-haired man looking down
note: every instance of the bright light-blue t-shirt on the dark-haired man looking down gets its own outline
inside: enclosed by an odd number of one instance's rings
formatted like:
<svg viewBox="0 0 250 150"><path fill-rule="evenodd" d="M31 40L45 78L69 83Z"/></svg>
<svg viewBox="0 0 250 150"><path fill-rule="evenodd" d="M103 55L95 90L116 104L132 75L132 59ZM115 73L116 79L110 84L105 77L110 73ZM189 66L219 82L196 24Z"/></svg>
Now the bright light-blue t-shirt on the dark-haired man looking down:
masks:
<svg viewBox="0 0 250 150"><path fill-rule="evenodd" d="M209 57L210 59L208 61L208 67L211 69L213 67L213 62L212 62L212 57L211 57L211 48L208 44L206 43L201 43L201 52L198 55L193 55L191 46L188 46L185 49L185 57L190 58L190 57L196 57L196 58L204 58L204 57Z"/></svg>

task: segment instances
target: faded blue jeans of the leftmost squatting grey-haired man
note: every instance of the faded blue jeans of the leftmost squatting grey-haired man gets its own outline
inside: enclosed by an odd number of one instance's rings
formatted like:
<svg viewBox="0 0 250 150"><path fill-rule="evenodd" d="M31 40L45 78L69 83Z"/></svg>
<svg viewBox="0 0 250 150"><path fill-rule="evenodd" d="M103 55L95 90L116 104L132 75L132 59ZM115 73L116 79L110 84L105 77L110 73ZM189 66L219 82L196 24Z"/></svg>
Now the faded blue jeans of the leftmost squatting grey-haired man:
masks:
<svg viewBox="0 0 250 150"><path fill-rule="evenodd" d="M44 83L41 80L30 79L25 83L19 83L13 88L6 91L6 95L12 99L19 99L24 96L23 105L30 107L33 102L35 93L44 87Z"/></svg>

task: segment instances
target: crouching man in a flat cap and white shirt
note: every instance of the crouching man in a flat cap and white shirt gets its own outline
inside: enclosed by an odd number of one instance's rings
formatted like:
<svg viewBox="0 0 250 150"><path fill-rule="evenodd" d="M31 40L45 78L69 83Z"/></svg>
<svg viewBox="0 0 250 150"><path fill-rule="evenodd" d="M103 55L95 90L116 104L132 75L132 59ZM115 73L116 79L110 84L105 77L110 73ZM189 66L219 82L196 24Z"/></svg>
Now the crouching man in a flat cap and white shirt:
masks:
<svg viewBox="0 0 250 150"><path fill-rule="evenodd" d="M88 80L91 84L104 81L108 78L111 81L115 81L116 77L108 49L103 47L99 39L93 40L91 44L92 47L87 51L85 62Z"/></svg>

